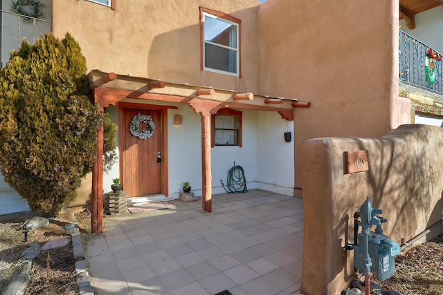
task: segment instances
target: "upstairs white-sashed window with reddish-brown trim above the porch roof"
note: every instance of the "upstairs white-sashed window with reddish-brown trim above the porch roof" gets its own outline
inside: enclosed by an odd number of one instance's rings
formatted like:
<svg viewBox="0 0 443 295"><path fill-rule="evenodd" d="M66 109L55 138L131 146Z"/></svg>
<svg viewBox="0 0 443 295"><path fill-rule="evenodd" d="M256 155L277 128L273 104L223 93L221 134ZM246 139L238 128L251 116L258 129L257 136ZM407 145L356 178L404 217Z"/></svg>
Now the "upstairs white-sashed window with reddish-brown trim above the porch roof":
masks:
<svg viewBox="0 0 443 295"><path fill-rule="evenodd" d="M200 8L201 68L240 77L239 19Z"/></svg>

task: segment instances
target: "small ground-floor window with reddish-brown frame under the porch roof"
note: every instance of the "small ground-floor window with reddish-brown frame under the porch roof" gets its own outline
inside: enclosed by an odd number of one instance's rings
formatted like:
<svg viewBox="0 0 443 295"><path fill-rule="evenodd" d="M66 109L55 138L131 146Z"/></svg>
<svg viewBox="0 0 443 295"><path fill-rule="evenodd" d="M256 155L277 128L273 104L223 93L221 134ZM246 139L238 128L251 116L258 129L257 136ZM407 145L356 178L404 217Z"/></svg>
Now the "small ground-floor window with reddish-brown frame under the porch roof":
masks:
<svg viewBox="0 0 443 295"><path fill-rule="evenodd" d="M242 112L221 108L212 115L212 146L242 146Z"/></svg>

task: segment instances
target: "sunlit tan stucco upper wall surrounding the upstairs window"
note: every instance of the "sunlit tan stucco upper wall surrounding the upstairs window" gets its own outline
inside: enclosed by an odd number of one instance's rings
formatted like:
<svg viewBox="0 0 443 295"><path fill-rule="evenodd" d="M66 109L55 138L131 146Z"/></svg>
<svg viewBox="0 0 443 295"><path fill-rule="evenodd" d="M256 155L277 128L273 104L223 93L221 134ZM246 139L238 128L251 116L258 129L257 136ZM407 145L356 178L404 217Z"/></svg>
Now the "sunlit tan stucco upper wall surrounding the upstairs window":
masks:
<svg viewBox="0 0 443 295"><path fill-rule="evenodd" d="M71 32L88 70L255 93L259 4L258 0L117 0L116 10L111 10L86 0L54 0L53 32L57 37ZM199 6L242 20L241 78L201 70Z"/></svg>

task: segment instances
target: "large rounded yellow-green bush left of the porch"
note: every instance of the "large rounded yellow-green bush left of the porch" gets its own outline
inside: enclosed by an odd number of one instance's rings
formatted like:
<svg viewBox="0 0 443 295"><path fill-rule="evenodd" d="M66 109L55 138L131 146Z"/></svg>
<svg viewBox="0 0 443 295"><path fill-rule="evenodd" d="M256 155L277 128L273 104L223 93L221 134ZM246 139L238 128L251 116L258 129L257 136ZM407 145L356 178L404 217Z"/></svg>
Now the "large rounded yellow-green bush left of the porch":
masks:
<svg viewBox="0 0 443 295"><path fill-rule="evenodd" d="M49 215L75 199L95 161L103 114L91 104L86 70L69 33L25 40L1 68L1 173L31 209Z"/></svg>

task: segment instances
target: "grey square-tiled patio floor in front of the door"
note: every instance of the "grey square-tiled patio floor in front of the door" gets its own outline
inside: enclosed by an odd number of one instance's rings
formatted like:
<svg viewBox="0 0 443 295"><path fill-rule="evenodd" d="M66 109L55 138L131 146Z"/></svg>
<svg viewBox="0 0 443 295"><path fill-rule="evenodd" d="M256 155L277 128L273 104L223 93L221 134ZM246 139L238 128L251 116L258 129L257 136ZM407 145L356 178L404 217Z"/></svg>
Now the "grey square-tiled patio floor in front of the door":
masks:
<svg viewBox="0 0 443 295"><path fill-rule="evenodd" d="M293 294L300 289L302 199L269 191L104 218L87 244L94 294Z"/></svg>

